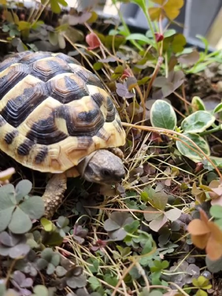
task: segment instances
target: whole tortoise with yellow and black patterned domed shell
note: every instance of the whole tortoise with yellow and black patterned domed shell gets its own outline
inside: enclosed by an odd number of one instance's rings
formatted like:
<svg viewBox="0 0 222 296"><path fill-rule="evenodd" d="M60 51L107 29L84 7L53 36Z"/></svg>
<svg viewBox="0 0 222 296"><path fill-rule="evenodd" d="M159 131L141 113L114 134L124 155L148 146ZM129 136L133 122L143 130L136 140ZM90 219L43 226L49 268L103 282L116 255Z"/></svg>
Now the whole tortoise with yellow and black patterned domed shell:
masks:
<svg viewBox="0 0 222 296"><path fill-rule="evenodd" d="M45 217L61 205L67 178L116 184L125 176L126 134L100 78L61 52L24 51L0 63L0 149L51 173Z"/></svg>

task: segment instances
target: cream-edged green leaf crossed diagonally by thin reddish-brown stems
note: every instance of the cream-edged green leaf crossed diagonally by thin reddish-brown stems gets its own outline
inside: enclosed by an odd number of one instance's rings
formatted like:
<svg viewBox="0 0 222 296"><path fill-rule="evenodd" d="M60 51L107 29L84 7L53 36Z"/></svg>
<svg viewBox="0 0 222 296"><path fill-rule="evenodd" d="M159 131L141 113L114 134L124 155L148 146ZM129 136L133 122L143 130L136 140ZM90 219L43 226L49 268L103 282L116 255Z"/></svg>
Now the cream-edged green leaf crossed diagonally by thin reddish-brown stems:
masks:
<svg viewBox="0 0 222 296"><path fill-rule="evenodd" d="M204 140L204 138L200 137L197 134L189 134L189 133L184 133L184 135L192 140L199 148L201 148L206 155L210 155L210 148L208 143ZM189 147L187 147L184 143L181 141L176 141L176 146L178 150L181 152L182 155L192 159L193 161L201 161L204 158L204 155L201 157L199 154L197 154L196 150L197 148L193 146L193 144L189 141L186 140L184 137L179 137L183 142L185 142L186 145L189 145L191 148L194 150L191 150ZM200 151L198 151L201 153Z"/></svg>

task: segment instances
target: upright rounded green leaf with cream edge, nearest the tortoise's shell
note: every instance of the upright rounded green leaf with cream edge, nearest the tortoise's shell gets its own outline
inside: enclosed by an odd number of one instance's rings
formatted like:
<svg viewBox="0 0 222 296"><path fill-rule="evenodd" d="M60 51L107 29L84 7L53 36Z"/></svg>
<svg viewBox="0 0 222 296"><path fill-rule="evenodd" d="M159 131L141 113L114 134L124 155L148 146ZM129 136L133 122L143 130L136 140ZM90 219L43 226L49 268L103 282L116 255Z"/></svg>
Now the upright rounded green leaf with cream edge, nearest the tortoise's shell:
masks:
<svg viewBox="0 0 222 296"><path fill-rule="evenodd" d="M168 102L156 100L150 109L150 121L154 127L174 130L177 124L177 116Z"/></svg>

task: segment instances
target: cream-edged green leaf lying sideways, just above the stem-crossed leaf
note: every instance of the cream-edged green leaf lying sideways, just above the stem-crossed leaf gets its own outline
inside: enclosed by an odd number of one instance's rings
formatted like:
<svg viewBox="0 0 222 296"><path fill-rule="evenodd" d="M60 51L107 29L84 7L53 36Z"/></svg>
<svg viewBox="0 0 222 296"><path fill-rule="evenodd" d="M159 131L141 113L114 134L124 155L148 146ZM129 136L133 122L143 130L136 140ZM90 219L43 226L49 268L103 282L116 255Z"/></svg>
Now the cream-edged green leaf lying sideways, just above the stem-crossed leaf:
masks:
<svg viewBox="0 0 222 296"><path fill-rule="evenodd" d="M182 121L181 127L190 134L202 133L214 123L215 119L208 111L196 111Z"/></svg>

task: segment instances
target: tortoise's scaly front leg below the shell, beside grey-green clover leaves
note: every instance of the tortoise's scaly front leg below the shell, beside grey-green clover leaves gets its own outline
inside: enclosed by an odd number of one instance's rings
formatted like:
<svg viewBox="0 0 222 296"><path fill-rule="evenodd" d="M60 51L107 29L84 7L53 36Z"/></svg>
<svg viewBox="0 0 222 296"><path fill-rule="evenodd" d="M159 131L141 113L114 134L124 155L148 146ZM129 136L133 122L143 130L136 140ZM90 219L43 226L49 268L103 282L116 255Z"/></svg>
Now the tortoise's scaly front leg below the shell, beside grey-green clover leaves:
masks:
<svg viewBox="0 0 222 296"><path fill-rule="evenodd" d="M61 206L64 192L67 189L66 173L54 174L48 181L42 199L45 205L44 217L50 219Z"/></svg>

